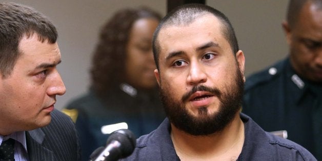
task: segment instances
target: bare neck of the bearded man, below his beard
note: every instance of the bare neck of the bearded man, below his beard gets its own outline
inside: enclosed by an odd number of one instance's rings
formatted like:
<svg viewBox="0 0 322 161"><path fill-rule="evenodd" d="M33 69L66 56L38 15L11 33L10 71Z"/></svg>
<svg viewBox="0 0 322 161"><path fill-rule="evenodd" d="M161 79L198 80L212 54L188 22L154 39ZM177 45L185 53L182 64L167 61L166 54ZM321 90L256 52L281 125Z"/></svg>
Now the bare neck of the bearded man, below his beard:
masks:
<svg viewBox="0 0 322 161"><path fill-rule="evenodd" d="M171 124L171 139L181 160L236 160L242 152L245 132L239 112L221 132L193 136Z"/></svg>

